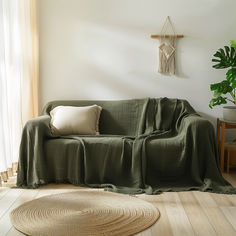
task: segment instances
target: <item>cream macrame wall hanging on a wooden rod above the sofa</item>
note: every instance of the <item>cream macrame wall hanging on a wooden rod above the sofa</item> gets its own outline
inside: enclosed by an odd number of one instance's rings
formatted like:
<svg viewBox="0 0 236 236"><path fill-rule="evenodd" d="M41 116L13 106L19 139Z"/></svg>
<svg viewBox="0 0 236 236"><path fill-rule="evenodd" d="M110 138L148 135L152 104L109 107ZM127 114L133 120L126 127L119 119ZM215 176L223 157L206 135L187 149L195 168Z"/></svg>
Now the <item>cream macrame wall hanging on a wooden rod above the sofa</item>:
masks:
<svg viewBox="0 0 236 236"><path fill-rule="evenodd" d="M170 28L171 34L166 34ZM183 38L183 35L176 35L173 24L170 17L166 18L166 21L162 27L159 35L151 35L151 38L159 38L159 66L158 72L163 74L174 75L176 73L176 38Z"/></svg>

